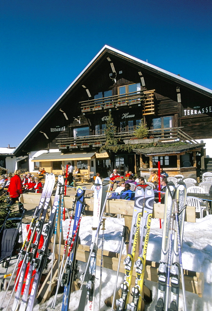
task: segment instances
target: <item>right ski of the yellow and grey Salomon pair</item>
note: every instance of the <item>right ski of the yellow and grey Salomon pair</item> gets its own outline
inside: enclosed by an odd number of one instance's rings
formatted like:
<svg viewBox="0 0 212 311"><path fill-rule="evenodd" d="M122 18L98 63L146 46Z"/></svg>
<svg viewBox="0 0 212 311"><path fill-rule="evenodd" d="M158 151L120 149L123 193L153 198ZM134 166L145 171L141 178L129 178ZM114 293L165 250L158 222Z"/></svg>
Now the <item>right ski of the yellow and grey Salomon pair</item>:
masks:
<svg viewBox="0 0 212 311"><path fill-rule="evenodd" d="M138 194L140 193L140 188L138 188ZM135 286L132 288L133 301L130 304L127 304L127 311L139 311L141 309L141 299L143 293L144 285L144 268L146 264L146 254L147 246L149 240L149 231L150 224L153 213L154 205L154 190L147 186L144 190L144 209L143 209L143 219L141 225L141 236L140 236L140 245L139 245L139 256L135 262L135 272L136 280ZM141 193L142 194L142 193Z"/></svg>

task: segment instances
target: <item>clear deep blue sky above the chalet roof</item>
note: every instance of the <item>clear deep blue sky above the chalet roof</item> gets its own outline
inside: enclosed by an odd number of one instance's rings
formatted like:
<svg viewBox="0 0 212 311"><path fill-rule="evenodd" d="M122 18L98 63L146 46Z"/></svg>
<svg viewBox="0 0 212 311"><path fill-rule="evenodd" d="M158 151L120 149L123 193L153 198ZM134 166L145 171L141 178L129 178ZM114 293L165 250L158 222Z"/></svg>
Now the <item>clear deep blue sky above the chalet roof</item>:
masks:
<svg viewBox="0 0 212 311"><path fill-rule="evenodd" d="M212 89L211 0L1 0L0 147L17 146L105 45Z"/></svg>

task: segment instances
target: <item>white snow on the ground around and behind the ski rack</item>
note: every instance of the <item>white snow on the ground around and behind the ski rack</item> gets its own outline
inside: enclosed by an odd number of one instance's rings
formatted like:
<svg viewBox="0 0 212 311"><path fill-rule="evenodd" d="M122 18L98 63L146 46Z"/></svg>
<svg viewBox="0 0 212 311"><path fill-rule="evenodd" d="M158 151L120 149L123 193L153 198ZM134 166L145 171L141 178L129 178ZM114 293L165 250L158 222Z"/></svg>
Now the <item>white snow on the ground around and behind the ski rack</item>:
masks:
<svg viewBox="0 0 212 311"><path fill-rule="evenodd" d="M68 228L69 220L63 222L64 238L66 237L66 231ZM186 291L186 305L188 311L209 311L212 310L212 232L211 232L212 215L208 215L203 219L196 219L196 223L185 222L184 236L183 236L183 248L182 248L182 262L183 268L193 270L196 272L203 272L205 276L205 287L203 297L200 298L196 294L192 294ZM163 221L162 221L163 224ZM121 234L124 225L124 218L106 218L105 223L105 241L104 249L112 252L120 252L121 246ZM92 236L92 217L85 216L82 218L80 226L80 239L81 244L90 245ZM26 230L25 233L26 234ZM102 230L100 230L98 247L101 248L101 237ZM147 260L160 261L161 253L161 242L162 242L162 229L159 228L159 220L152 219L149 243L147 249ZM126 248L124 247L123 253L126 254ZM123 264L123 262L121 262ZM85 271L86 263L79 262L79 274L78 277L82 279L82 273ZM10 265L8 272L12 271L14 267ZM4 268L0 268L0 275L2 276L5 272ZM95 311L98 310L99 305L99 278L100 278L100 267L97 267L96 273L96 298L95 298ZM116 272L109 269L103 268L102 272L102 291L101 291L101 307L100 311L111 310L104 303L105 299L110 297L114 291ZM120 273L117 287L123 281L123 274ZM155 310L155 304L157 300L157 289L158 285L152 281L145 281L145 285L152 291L153 302L145 305L145 310ZM8 291L7 297L3 306L7 304L8 297L10 296ZM80 299L81 291L77 290L71 294L69 310L78 310L78 301ZM0 292L0 300L4 296L4 292ZM52 310L53 297L51 297L44 304L35 304L34 310ZM12 299L13 301L13 299ZM57 304L55 310L61 310L62 294L58 295ZM9 305L8 310L12 309L12 302ZM184 310L182 292L180 291L179 310ZM81 310L80 310L81 311Z"/></svg>

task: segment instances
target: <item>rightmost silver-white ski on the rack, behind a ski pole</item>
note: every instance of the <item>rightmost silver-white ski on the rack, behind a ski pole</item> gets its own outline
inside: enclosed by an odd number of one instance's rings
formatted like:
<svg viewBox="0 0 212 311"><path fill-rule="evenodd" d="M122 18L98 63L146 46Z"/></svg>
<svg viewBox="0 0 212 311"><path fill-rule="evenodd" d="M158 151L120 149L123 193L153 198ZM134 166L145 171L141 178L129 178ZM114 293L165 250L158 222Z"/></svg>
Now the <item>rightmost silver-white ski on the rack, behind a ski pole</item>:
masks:
<svg viewBox="0 0 212 311"><path fill-rule="evenodd" d="M185 284L184 284L184 274L181 257L181 247L182 247L183 227L184 227L185 207L186 207L186 185L181 180L178 182L176 190L176 199L173 200L173 203L174 203L173 213L175 215L176 230L174 234L173 260L170 271L171 296L170 296L170 307L168 308L168 311L178 310L180 275L184 298L184 311L186 311Z"/></svg>

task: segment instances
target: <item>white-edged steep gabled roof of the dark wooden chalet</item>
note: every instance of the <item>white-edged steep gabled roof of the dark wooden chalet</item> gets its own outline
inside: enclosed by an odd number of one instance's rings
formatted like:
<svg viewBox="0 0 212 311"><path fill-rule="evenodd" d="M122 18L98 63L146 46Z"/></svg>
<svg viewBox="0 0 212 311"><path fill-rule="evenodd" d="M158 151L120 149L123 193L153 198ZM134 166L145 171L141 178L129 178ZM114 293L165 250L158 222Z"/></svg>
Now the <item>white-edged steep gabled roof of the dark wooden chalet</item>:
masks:
<svg viewBox="0 0 212 311"><path fill-rule="evenodd" d="M29 139L32 137L32 135L38 130L42 124L47 120L47 117L49 118L49 114L53 113L58 107L61 105L62 101L70 94L70 92L73 90L73 88L82 81L84 76L91 70L92 67L95 66L95 64L105 55L115 55L118 58L121 58L122 60L125 60L127 62L133 63L135 65L139 65L142 68L148 70L149 72L152 72L154 74L157 74L157 76L166 78L170 81L177 82L182 86L186 86L192 90L195 90L199 92L200 94L203 94L207 97L212 98L212 90L207 89L204 86L200 86L194 82L191 82L185 78L182 78L180 76L177 76L176 74L173 74L171 72L168 72L164 69L161 69L159 67L156 67L154 65L151 65L150 63L144 62L140 60L139 58L135 58L129 54L123 53L117 49L114 49L108 45L105 45L99 53L91 60L91 62L82 70L82 72L76 77L76 79L68 86L68 88L63 92L63 94L58 98L58 100L55 101L55 103L49 108L49 110L43 115L43 117L35 124L35 126L31 129L31 131L24 137L24 139L20 142L20 144L16 147L14 150L14 154L19 153L23 149L24 145L29 141Z"/></svg>

